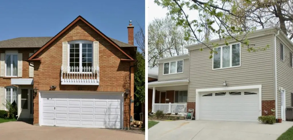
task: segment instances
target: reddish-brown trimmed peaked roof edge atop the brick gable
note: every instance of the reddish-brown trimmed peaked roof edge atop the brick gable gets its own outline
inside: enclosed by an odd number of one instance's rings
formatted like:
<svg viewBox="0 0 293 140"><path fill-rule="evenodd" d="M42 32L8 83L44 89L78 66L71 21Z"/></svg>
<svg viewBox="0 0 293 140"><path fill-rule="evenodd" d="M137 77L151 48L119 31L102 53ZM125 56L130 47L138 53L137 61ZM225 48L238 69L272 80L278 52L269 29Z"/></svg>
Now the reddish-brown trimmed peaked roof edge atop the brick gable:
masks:
<svg viewBox="0 0 293 140"><path fill-rule="evenodd" d="M95 26L93 26L91 23L86 21L82 16L78 16L74 19L69 25L67 25L63 30L61 30L59 33L57 33L56 36L54 36L50 41L48 41L45 45L42 46L37 52L35 52L28 60L33 60L35 56L37 56L42 50L44 50L47 46L49 46L53 41L55 41L59 36L61 36L65 31L67 31L71 26L73 26L77 21L83 21L86 23L89 27L91 27L94 31L96 31L98 34L100 34L103 38L105 38L107 41L109 41L112 45L114 45L118 50L120 50L122 53L124 53L130 60L134 60L130 55L125 53L117 43L115 43L112 39L110 39L108 36L106 36L104 33L102 33L100 30L98 30ZM117 41L116 41L117 42ZM120 41L119 41L120 42Z"/></svg>

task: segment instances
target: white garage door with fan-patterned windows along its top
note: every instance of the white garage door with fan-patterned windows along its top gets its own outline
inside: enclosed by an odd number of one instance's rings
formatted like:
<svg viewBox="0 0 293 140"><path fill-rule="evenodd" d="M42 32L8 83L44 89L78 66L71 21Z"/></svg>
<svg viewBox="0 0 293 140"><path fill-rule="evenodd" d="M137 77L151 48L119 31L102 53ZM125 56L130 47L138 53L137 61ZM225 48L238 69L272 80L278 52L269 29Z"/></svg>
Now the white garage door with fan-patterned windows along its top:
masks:
<svg viewBox="0 0 293 140"><path fill-rule="evenodd" d="M221 91L200 94L199 119L257 122L260 116L257 91Z"/></svg>

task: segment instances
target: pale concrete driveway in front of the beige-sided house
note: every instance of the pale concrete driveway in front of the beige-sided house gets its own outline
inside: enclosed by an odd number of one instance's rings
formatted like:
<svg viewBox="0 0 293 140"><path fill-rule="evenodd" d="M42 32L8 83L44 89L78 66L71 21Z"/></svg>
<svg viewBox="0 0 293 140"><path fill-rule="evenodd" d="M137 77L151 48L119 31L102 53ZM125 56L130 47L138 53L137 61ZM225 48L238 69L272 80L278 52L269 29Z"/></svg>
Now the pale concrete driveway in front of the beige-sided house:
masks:
<svg viewBox="0 0 293 140"><path fill-rule="evenodd" d="M151 140L275 140L291 126L293 122L160 121L148 135Z"/></svg>

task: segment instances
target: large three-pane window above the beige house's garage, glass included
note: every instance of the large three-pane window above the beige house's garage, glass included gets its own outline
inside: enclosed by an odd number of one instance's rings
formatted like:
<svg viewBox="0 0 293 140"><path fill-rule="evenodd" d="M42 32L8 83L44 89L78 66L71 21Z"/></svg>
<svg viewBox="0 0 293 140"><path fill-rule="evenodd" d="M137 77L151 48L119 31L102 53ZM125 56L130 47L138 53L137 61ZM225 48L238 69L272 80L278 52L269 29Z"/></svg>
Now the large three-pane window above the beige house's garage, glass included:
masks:
<svg viewBox="0 0 293 140"><path fill-rule="evenodd" d="M240 43L214 48L212 69L231 68L240 66Z"/></svg>

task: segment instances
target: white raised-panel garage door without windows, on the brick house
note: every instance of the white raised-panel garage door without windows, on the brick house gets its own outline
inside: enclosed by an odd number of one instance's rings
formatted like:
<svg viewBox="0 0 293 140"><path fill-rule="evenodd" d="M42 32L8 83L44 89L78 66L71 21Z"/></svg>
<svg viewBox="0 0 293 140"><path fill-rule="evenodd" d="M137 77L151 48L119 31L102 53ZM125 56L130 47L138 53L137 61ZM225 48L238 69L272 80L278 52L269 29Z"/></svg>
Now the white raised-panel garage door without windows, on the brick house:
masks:
<svg viewBox="0 0 293 140"><path fill-rule="evenodd" d="M44 126L122 127L122 93L41 93L40 105Z"/></svg>

